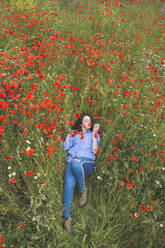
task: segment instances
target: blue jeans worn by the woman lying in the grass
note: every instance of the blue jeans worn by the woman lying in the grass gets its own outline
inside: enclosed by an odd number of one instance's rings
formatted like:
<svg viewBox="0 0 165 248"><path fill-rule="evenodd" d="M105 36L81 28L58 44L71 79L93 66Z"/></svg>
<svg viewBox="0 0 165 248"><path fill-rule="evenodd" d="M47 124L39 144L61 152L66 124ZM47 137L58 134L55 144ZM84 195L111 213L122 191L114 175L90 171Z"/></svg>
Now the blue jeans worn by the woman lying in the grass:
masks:
<svg viewBox="0 0 165 248"><path fill-rule="evenodd" d="M93 173L95 165L95 160L84 157L67 162L64 183L64 217L70 216L72 194L76 181L78 181L79 190L83 191L85 189L85 176Z"/></svg>

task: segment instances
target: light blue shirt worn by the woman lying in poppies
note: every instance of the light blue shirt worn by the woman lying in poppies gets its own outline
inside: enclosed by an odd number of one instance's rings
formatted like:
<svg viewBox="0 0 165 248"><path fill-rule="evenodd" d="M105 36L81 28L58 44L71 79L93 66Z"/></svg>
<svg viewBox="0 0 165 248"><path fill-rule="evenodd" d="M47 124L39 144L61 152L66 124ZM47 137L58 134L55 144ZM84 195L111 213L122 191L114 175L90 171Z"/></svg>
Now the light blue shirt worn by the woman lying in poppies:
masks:
<svg viewBox="0 0 165 248"><path fill-rule="evenodd" d="M77 133L74 137L72 135L69 137L68 141L63 141L64 150L67 150L69 156L66 158L67 162L70 162L73 158L91 158L96 160L96 155L93 153L93 132L87 130L83 134L83 139L81 135ZM97 144L100 149L100 135L97 133Z"/></svg>

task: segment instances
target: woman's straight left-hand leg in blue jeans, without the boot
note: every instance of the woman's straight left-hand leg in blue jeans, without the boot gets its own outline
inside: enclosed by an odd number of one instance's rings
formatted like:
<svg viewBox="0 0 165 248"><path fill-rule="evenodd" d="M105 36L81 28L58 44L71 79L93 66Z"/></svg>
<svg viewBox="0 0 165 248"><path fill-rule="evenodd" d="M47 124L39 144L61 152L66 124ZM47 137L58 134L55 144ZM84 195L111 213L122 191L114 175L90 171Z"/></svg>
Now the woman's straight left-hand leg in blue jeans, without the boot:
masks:
<svg viewBox="0 0 165 248"><path fill-rule="evenodd" d="M67 163L65 170L65 183L64 183L64 217L70 216L70 207L72 201L72 194L74 186L76 184L76 178L71 169L71 162Z"/></svg>

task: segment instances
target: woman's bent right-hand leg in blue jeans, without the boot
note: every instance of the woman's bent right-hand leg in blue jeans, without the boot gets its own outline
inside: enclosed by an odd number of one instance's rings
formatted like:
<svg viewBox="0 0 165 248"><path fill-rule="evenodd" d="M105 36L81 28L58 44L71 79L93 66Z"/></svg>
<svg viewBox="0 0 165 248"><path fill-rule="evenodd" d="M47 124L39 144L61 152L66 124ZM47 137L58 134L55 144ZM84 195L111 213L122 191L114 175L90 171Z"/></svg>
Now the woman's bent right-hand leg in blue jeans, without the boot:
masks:
<svg viewBox="0 0 165 248"><path fill-rule="evenodd" d="M95 161L88 158L72 160L71 169L78 181L80 191L85 189L85 176L93 172L95 164Z"/></svg>

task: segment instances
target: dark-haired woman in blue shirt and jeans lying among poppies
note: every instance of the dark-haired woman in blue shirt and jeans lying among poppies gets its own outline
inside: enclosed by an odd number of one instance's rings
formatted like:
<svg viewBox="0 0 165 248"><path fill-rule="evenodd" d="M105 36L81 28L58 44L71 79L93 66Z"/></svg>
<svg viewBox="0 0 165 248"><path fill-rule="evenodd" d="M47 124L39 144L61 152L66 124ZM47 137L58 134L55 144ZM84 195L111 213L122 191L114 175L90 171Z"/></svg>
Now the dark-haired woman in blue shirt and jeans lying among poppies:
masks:
<svg viewBox="0 0 165 248"><path fill-rule="evenodd" d="M64 150L69 156L66 159L67 166L64 182L64 229L73 233L72 225L74 218L70 217L70 207L73 190L78 181L80 198L79 206L87 204L87 188L85 187L85 176L94 171L96 155L100 149L99 124L93 124L93 119L88 114L81 114L72 127L73 134L68 134L63 141Z"/></svg>

